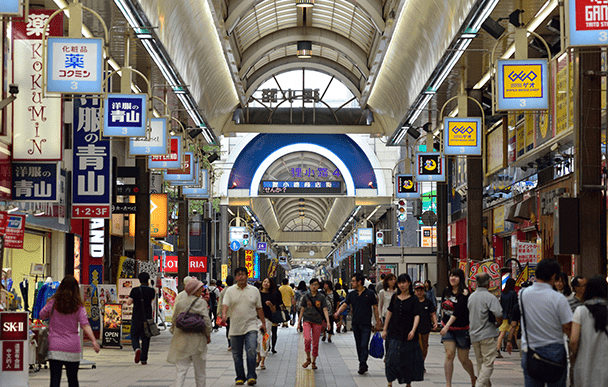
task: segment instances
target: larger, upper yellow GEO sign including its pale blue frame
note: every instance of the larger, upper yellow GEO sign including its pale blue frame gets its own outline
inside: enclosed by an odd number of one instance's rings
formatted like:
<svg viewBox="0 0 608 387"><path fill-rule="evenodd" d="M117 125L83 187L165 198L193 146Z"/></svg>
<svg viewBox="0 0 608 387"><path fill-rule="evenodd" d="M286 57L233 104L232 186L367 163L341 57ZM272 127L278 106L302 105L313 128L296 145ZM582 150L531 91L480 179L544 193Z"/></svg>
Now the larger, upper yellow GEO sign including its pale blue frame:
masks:
<svg viewBox="0 0 608 387"><path fill-rule="evenodd" d="M496 110L547 110L549 80L546 59L498 61Z"/></svg>

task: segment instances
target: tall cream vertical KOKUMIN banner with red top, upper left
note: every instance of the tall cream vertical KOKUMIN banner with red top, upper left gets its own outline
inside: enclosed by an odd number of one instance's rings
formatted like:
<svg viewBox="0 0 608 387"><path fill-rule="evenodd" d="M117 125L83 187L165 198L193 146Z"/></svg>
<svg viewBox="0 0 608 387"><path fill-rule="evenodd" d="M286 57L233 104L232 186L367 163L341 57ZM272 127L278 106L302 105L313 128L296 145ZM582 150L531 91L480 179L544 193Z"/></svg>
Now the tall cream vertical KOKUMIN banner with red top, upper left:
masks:
<svg viewBox="0 0 608 387"><path fill-rule="evenodd" d="M32 9L29 21L14 19L13 79L21 94L11 104L13 160L57 161L62 158L61 98L42 98L42 34L54 10ZM46 36L63 35L63 18L51 20Z"/></svg>

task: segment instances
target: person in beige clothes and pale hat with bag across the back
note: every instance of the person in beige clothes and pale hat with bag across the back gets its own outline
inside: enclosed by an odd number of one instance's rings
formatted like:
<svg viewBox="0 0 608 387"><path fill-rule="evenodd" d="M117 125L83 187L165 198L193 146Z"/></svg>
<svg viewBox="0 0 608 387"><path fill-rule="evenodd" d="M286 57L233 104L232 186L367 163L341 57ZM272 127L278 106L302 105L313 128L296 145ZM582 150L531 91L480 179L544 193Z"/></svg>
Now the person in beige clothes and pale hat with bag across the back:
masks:
<svg viewBox="0 0 608 387"><path fill-rule="evenodd" d="M175 324L171 325L173 334L167 361L175 364L175 385L186 384L186 374L190 364L194 365L194 380L196 387L205 387L207 367L207 344L211 342L211 320L207 309L207 302L201 298L203 283L196 278L190 279L186 284L187 297L182 297L173 309L177 317L180 313L189 312L205 319L204 332L185 332Z"/></svg>

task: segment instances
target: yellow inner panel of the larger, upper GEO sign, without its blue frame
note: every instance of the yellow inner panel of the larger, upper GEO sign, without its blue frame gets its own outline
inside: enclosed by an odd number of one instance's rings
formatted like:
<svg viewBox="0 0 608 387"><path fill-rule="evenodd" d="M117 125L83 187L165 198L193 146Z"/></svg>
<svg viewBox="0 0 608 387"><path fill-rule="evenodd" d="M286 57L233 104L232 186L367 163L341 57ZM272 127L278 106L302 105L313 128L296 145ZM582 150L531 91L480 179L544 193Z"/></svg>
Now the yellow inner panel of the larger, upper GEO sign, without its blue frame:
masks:
<svg viewBox="0 0 608 387"><path fill-rule="evenodd" d="M504 98L542 98L543 73L540 64L505 65L503 75Z"/></svg>

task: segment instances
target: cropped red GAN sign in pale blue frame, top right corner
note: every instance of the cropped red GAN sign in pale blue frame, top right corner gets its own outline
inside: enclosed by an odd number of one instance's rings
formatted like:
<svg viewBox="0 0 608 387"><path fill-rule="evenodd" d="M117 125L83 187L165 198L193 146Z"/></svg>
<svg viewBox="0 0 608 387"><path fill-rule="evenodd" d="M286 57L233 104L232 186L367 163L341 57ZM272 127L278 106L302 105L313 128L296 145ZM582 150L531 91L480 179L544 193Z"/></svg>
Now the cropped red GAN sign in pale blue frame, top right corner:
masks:
<svg viewBox="0 0 608 387"><path fill-rule="evenodd" d="M603 46L608 42L608 3L569 0L566 6L569 46Z"/></svg>

